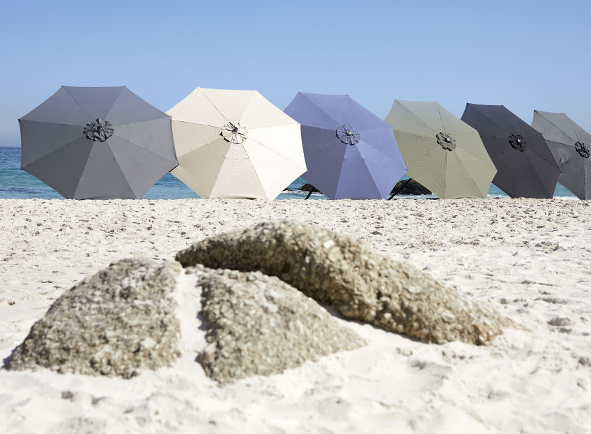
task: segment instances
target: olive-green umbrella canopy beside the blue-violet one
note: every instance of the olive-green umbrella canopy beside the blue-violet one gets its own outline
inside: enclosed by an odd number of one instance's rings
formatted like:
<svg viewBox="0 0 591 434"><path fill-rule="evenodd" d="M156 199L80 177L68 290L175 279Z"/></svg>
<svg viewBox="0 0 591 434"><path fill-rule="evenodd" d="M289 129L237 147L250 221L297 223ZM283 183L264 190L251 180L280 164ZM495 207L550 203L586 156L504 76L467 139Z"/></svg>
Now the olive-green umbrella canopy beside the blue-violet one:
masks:
<svg viewBox="0 0 591 434"><path fill-rule="evenodd" d="M386 122L408 176L443 199L484 198L496 168L478 132L437 102L394 100Z"/></svg>

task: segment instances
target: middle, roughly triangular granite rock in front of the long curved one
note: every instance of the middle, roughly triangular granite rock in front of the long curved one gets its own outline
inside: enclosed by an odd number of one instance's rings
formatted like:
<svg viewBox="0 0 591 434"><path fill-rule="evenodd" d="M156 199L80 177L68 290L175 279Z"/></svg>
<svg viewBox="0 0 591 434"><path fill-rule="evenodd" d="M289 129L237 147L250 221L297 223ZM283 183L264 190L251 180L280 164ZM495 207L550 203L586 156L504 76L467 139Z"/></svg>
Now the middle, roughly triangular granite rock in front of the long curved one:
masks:
<svg viewBox="0 0 591 434"><path fill-rule="evenodd" d="M281 373L365 343L277 277L201 267L194 271L208 341L199 360L218 382Z"/></svg>

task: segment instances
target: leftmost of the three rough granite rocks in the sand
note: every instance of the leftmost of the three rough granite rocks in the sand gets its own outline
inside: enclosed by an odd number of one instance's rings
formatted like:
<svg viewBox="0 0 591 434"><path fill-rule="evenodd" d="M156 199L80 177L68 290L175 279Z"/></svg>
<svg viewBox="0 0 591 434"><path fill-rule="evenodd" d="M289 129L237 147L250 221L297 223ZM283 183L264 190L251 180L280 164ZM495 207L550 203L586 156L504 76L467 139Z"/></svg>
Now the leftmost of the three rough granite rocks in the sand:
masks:
<svg viewBox="0 0 591 434"><path fill-rule="evenodd" d="M66 291L17 348L8 369L130 378L178 357L171 293L181 267L123 259Z"/></svg>

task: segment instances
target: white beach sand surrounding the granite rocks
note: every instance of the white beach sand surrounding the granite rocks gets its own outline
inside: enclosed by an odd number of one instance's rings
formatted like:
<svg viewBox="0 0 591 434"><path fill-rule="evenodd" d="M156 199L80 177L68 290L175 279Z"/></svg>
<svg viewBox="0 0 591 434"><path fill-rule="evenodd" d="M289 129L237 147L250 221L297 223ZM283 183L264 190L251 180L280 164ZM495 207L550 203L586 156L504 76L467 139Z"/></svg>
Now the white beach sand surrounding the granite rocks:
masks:
<svg viewBox="0 0 591 434"><path fill-rule="evenodd" d="M183 276L187 332L173 367L132 380L2 369L0 432L591 432L584 201L1 200L0 359L63 290L111 261L172 258L205 236L286 217L368 240L531 332L507 330L488 347L437 346L344 321L367 347L218 387L194 362L204 332Z"/></svg>

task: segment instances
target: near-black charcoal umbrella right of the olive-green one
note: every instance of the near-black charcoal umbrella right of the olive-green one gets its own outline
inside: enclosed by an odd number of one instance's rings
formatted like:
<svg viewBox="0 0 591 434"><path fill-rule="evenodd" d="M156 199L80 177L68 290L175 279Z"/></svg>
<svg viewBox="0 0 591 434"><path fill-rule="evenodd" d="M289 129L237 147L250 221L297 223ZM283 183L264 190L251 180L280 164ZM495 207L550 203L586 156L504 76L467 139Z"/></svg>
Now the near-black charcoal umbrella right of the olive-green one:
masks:
<svg viewBox="0 0 591 434"><path fill-rule="evenodd" d="M466 104L462 121L478 130L498 170L494 185L511 197L552 198L560 168L540 132L502 105Z"/></svg>

